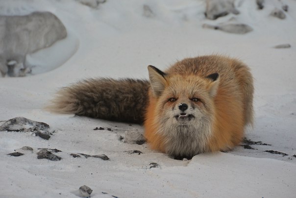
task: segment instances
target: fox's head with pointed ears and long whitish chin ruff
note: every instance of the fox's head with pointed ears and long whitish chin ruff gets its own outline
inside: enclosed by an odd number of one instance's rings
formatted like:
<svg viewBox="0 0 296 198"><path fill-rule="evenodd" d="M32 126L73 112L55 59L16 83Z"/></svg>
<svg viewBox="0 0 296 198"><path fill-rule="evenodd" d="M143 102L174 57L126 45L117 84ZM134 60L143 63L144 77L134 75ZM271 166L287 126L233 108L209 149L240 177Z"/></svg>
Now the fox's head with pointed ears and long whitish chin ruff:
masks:
<svg viewBox="0 0 296 198"><path fill-rule="evenodd" d="M151 92L156 98L155 122L165 138L166 152L174 158L192 158L207 150L214 122L214 98L219 74L166 74L148 66Z"/></svg>

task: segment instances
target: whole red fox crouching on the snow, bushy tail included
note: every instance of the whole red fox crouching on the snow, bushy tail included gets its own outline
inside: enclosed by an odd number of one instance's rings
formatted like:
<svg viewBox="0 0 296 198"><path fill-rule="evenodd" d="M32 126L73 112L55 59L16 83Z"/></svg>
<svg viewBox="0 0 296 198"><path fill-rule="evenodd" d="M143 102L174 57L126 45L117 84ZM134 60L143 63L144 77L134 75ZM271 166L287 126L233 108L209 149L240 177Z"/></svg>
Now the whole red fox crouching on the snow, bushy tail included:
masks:
<svg viewBox="0 0 296 198"><path fill-rule="evenodd" d="M149 81L88 79L60 89L56 113L144 123L152 149L174 159L238 145L253 123L253 78L237 59L201 56L166 71L148 66Z"/></svg>

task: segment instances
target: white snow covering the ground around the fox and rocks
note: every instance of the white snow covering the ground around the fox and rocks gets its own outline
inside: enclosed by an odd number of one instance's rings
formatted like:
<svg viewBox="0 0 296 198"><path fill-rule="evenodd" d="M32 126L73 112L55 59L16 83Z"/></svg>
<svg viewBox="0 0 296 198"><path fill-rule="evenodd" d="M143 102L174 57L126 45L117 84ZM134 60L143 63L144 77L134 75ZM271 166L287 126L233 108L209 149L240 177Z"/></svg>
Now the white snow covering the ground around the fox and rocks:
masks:
<svg viewBox="0 0 296 198"><path fill-rule="evenodd" d="M239 15L212 21L204 17L203 0L107 0L98 8L75 0L0 0L1 13L50 11L69 33L64 41L39 52L40 59L35 60L42 65L36 66L36 75L0 78L0 120L23 116L55 130L49 140L0 132L0 197L77 197L83 185L93 190L94 198L295 197L296 3L281 2L289 5L283 20L270 15L281 6L277 0L266 1L263 10L257 9L255 0L236 0ZM147 14L147 6L153 14ZM253 31L239 35L202 28L232 17ZM291 48L273 48L286 43ZM176 60L208 54L237 57L249 65L255 79L255 125L247 129L246 137L271 145L238 146L229 153L204 153L178 161L147 144L119 141L125 131L143 133L142 126L43 109L58 88L79 80L147 79L147 65L165 69ZM113 131L93 130L96 127ZM20 157L7 155L23 146L34 151ZM55 154L63 159L37 159L37 148L59 149L63 152ZM124 152L129 150L143 154ZM110 160L73 158L71 153L105 154ZM150 168L152 162L158 168Z"/></svg>

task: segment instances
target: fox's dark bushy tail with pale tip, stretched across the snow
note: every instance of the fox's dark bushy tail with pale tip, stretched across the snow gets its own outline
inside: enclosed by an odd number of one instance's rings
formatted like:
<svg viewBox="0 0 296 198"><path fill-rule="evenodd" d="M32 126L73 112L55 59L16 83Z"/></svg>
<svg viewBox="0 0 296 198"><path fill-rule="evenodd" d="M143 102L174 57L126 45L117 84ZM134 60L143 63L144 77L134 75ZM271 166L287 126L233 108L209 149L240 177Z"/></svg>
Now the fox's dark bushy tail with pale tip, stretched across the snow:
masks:
<svg viewBox="0 0 296 198"><path fill-rule="evenodd" d="M61 88L46 109L54 113L142 124L148 88L146 80L87 79Z"/></svg>

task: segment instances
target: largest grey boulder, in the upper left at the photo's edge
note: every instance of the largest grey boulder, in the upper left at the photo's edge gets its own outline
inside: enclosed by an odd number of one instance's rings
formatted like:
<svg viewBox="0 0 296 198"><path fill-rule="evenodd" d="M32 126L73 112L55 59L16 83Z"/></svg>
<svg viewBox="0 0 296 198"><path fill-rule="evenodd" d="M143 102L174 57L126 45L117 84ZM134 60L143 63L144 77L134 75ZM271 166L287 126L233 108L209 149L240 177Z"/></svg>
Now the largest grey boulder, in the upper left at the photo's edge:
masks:
<svg viewBox="0 0 296 198"><path fill-rule="evenodd" d="M50 12L24 16L0 15L0 72L2 76L25 76L31 67L27 54L47 48L67 36L62 22Z"/></svg>

